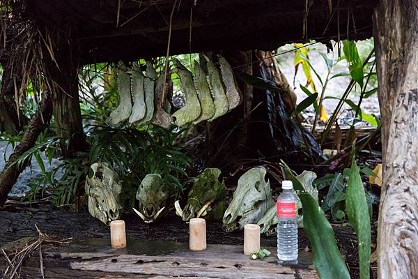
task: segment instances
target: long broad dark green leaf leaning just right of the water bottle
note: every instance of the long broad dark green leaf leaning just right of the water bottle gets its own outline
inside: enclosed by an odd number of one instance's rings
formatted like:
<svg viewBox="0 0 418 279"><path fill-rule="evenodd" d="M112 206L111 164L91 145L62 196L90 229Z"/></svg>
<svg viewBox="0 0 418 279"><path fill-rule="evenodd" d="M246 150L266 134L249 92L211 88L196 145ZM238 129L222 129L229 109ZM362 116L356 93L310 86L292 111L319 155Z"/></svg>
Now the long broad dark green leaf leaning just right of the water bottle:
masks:
<svg viewBox="0 0 418 279"><path fill-rule="evenodd" d="M283 161L282 163L286 176L293 182L295 190L302 192L305 189L302 181L292 173L286 163ZM334 231L324 211L320 209L318 201L309 194L299 197L302 202L304 231L311 242L314 266L319 278L350 278L346 263L336 246Z"/></svg>

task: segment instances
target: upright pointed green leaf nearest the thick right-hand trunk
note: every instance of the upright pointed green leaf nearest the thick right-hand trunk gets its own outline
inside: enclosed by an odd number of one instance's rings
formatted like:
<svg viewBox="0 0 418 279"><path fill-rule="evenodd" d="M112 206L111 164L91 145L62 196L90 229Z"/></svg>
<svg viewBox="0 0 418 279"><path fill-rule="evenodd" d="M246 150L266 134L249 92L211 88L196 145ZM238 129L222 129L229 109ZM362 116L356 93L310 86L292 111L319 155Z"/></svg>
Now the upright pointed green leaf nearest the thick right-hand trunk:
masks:
<svg viewBox="0 0 418 279"><path fill-rule="evenodd" d="M354 144L353 150L355 150ZM348 177L348 186L346 190L346 211L348 220L357 235L360 278L369 279L371 242L370 216L362 178L359 174L359 168L355 163L355 156L353 156L350 176Z"/></svg>

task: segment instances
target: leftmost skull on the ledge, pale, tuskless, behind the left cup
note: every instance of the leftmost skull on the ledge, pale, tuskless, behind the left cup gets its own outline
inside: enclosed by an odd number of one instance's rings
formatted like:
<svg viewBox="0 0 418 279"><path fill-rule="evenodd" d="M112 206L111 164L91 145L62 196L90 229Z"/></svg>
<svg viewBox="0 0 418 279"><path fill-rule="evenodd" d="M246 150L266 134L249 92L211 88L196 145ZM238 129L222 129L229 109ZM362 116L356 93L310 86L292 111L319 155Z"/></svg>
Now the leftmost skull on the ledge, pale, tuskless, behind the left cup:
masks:
<svg viewBox="0 0 418 279"><path fill-rule="evenodd" d="M109 225L112 220L119 218L122 209L121 182L118 174L111 170L107 163L94 163L91 169L93 176L86 177L88 212L102 223Z"/></svg>

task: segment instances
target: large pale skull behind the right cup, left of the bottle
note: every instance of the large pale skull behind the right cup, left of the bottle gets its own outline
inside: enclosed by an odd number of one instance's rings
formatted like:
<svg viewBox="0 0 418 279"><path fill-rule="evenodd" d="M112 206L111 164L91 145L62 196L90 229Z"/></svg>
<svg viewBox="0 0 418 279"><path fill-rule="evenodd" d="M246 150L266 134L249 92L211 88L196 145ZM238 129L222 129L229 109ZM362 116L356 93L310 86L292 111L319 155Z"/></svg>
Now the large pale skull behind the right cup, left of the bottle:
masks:
<svg viewBox="0 0 418 279"><path fill-rule="evenodd" d="M238 179L237 189L222 220L226 232L257 223L274 205L270 181L265 181L265 174L262 167L254 167Z"/></svg>

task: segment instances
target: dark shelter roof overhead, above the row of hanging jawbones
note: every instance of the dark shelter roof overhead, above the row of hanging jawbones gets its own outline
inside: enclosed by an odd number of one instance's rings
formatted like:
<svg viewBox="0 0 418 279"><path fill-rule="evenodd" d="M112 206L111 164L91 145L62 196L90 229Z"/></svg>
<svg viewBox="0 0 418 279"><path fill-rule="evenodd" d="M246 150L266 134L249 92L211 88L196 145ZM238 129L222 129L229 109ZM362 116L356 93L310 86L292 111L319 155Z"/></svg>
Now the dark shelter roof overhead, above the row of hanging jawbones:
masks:
<svg viewBox="0 0 418 279"><path fill-rule="evenodd" d="M181 54L209 50L271 50L306 38L320 41L339 36L346 38L347 31L353 39L369 38L377 2L31 0L27 1L26 10L28 17L47 27L75 32L82 63L93 63L165 56L171 11L170 54Z"/></svg>

